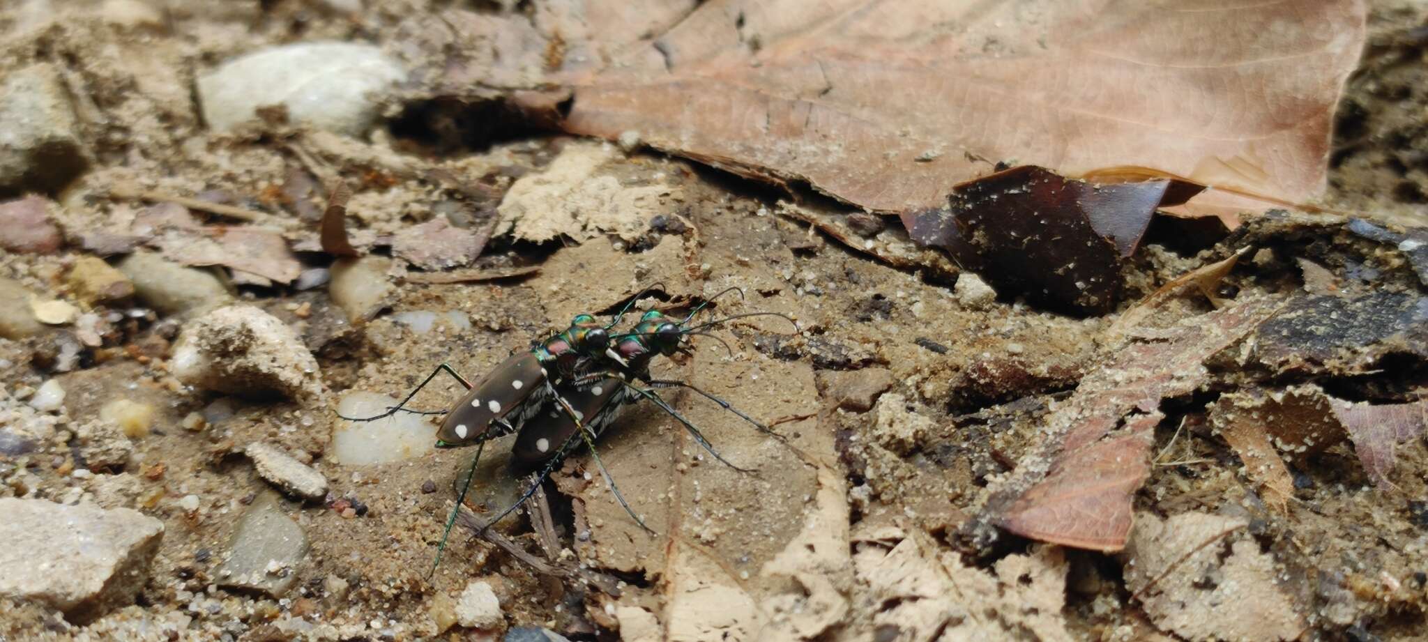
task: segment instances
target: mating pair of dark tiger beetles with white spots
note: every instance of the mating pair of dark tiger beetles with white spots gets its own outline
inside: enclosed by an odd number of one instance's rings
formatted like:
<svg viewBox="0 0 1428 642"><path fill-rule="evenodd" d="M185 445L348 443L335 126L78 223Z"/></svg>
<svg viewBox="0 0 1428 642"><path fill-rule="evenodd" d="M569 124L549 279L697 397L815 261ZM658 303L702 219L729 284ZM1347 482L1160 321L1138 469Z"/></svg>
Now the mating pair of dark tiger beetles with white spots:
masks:
<svg viewBox="0 0 1428 642"><path fill-rule="evenodd" d="M476 474L481 451L490 439L514 432L516 461L527 465L544 464L544 467L536 477L534 484L520 499L490 519L487 528L530 499L565 455L584 444L590 449L591 459L600 469L600 475L604 478L605 485L610 486L615 501L620 502L640 528L654 534L635 515L624 496L620 495L614 479L600 461L600 454L595 452L594 439L614 421L620 408L638 399L654 402L678 419L690 435L694 437L694 441L708 451L710 455L741 472L750 471L724 459L710 445L708 439L704 438L698 427L670 407L654 388L687 388L738 415L760 431L778 437L767 425L734 408L727 401L688 382L653 378L650 362L655 355L670 357L675 352L688 352L690 337L704 335L718 340L714 335L705 334L705 331L735 318L783 317L794 324L794 331L798 330L798 324L793 318L778 312L750 312L691 325L694 317L720 295L731 291L743 295L743 291L738 288L728 288L695 305L684 318L668 317L658 310L650 310L640 317L640 321L628 332L611 334L615 325L620 324L620 320L650 290L645 288L630 300L608 324L601 325L590 314L577 315L568 328L544 341L534 342L527 351L513 354L474 385L451 370L450 365L441 364L431 371L421 385L413 389L400 404L387 408L386 412L363 418L343 417L348 421L374 421L396 412L444 414L441 427L437 429L437 448L477 447L476 457L471 458L471 469L467 472L461 484L461 491L457 495L456 508L447 518L441 544L437 546L437 559L431 568L433 571L441 562L441 551L446 548L447 535L450 535L451 526L456 524L457 511L460 511L461 502L466 501L466 494ZM718 341L723 342L723 340ZM725 348L728 348L727 344ZM733 350L730 350L730 354L733 355ZM466 387L467 392L461 399L446 411L407 409L406 404L443 371Z"/></svg>

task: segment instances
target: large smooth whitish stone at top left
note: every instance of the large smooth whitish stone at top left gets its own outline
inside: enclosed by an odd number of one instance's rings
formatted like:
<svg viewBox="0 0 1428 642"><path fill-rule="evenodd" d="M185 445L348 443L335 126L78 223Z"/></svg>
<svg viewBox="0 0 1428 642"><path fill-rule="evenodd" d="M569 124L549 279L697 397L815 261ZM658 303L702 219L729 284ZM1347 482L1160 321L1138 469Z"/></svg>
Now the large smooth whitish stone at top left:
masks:
<svg viewBox="0 0 1428 642"><path fill-rule="evenodd" d="M283 106L288 120L361 136L377 118L381 94L406 77L397 61L368 44L298 43L224 63L198 77L203 117L218 131Z"/></svg>

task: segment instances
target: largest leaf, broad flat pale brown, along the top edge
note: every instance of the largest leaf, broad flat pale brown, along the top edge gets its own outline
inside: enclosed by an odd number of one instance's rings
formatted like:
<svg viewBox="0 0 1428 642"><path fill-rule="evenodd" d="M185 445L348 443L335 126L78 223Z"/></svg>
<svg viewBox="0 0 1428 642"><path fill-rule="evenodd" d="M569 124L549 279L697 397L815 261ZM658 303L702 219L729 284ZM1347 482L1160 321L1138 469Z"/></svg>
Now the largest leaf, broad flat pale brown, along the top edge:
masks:
<svg viewBox="0 0 1428 642"><path fill-rule="evenodd" d="M570 74L564 127L878 211L940 205L981 158L1302 201L1324 187L1364 16L1359 0L710 1Z"/></svg>

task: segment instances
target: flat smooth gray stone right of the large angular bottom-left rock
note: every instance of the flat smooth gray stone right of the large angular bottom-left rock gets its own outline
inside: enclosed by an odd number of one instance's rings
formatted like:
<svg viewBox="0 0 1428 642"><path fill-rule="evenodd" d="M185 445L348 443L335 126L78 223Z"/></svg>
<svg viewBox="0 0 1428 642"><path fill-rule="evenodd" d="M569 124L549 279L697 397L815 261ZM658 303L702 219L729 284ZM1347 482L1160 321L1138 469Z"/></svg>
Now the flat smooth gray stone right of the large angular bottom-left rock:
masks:
<svg viewBox="0 0 1428 642"><path fill-rule="evenodd" d="M281 596L297 581L307 556L307 534L283 514L277 494L263 492L243 512L228 558L218 566L218 586Z"/></svg>

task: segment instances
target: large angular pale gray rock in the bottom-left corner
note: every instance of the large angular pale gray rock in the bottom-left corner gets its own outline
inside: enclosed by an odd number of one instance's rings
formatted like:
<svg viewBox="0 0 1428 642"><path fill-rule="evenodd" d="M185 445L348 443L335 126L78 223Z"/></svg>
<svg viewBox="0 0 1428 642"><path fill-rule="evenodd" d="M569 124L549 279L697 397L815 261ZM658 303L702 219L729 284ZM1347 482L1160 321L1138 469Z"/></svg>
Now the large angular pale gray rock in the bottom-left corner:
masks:
<svg viewBox="0 0 1428 642"><path fill-rule="evenodd" d="M0 499L0 595L89 622L133 603L164 525L137 511Z"/></svg>

